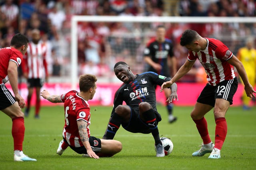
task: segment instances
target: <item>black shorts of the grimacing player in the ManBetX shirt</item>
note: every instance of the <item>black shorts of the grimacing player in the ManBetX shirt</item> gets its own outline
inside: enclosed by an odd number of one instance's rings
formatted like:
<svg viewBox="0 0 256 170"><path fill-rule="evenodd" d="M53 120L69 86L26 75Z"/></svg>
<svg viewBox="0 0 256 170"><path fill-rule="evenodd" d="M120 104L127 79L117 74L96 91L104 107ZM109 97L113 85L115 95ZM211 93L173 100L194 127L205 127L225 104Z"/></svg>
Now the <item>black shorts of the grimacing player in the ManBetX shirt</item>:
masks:
<svg viewBox="0 0 256 170"><path fill-rule="evenodd" d="M129 123L126 125L122 124L122 127L129 132L132 133L144 133L144 134L148 134L151 133L148 125L146 125L146 123L144 123L141 119L140 119L140 115L138 113L138 111L135 111L133 108L131 108L131 117L129 120ZM156 123L158 124L158 122L160 122L162 120L161 115L156 111L155 111L155 115L156 115Z"/></svg>

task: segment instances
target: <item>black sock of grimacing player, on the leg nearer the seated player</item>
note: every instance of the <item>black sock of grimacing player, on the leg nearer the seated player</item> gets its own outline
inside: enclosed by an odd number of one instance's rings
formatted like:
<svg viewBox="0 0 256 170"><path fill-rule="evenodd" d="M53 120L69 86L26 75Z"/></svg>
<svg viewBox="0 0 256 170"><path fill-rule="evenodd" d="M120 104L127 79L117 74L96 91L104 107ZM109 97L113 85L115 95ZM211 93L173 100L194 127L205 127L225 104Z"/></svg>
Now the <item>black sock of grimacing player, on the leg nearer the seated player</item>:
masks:
<svg viewBox="0 0 256 170"><path fill-rule="evenodd" d="M106 139L113 139L121 125L122 117L116 112L112 116L111 120L108 123L108 129L106 132Z"/></svg>

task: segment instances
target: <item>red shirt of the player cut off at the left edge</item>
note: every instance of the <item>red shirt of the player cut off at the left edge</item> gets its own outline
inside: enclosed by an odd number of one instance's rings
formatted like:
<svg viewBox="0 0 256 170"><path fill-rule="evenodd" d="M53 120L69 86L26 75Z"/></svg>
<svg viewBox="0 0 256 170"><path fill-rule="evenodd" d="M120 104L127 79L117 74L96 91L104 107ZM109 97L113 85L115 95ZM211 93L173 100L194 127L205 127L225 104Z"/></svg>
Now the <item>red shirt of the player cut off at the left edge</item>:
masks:
<svg viewBox="0 0 256 170"><path fill-rule="evenodd" d="M20 66L23 54L14 47L6 47L0 49L0 56L0 84L2 84L2 82L6 83L9 80L7 72L9 61L13 61L17 66Z"/></svg>

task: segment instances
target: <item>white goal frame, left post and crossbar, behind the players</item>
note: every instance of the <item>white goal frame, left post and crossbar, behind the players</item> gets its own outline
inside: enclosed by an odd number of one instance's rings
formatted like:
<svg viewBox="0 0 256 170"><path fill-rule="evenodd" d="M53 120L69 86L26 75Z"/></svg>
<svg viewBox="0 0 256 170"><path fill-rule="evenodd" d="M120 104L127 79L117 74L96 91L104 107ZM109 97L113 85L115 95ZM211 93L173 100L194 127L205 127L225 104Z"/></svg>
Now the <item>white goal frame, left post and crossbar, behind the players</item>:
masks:
<svg viewBox="0 0 256 170"><path fill-rule="evenodd" d="M171 17L171 16L72 16L71 20L71 67L72 89L78 83L78 22L138 22L138 23L256 23L255 17Z"/></svg>

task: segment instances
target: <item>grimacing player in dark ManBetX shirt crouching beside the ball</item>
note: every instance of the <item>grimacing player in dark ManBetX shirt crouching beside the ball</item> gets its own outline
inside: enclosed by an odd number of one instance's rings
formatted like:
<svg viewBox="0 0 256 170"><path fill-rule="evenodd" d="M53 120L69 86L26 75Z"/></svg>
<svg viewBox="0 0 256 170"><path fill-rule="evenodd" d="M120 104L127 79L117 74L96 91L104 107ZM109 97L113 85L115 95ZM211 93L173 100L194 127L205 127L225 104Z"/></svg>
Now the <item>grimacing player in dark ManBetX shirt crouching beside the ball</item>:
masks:
<svg viewBox="0 0 256 170"><path fill-rule="evenodd" d="M118 62L114 66L116 77L124 82L116 91L114 108L103 139L113 139L120 125L132 133L152 133L156 156L164 156L164 147L160 141L158 122L161 115L156 110L155 86L170 80L154 72L145 72L134 75L131 68L124 62ZM172 84L172 93L169 102L177 99L177 85ZM122 105L126 102L127 105Z"/></svg>

